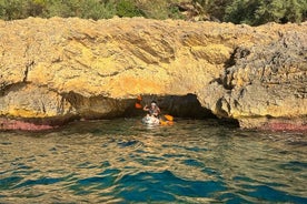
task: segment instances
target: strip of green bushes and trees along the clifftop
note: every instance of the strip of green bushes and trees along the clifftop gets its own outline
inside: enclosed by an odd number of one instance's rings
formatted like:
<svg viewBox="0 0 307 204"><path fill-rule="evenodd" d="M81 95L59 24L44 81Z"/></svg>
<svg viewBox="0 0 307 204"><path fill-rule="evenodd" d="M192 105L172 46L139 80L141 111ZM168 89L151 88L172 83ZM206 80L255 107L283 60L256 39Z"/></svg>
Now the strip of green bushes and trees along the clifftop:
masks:
<svg viewBox="0 0 307 204"><path fill-rule="evenodd" d="M306 0L0 0L3 20L28 17L217 20L250 26L303 22Z"/></svg>

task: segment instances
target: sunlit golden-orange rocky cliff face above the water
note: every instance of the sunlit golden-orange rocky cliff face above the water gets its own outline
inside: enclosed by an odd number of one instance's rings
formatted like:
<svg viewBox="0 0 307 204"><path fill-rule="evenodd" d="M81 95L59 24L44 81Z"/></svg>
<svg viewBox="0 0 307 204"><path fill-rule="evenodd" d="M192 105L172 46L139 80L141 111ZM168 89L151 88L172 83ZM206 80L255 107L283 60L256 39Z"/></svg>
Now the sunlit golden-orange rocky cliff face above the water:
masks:
<svg viewBox="0 0 307 204"><path fill-rule="evenodd" d="M121 116L140 94L179 116L199 105L246 128L307 129L306 72L306 23L0 21L1 129Z"/></svg>

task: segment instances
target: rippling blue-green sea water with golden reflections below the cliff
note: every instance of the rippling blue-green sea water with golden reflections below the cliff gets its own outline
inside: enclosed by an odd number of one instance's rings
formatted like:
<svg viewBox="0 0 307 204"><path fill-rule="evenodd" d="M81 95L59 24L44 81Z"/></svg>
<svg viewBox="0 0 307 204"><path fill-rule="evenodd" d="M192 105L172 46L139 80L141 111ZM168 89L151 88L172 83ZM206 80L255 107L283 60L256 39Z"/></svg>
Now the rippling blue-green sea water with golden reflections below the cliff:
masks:
<svg viewBox="0 0 307 204"><path fill-rule="evenodd" d="M0 203L307 203L307 135L137 119L0 133Z"/></svg>

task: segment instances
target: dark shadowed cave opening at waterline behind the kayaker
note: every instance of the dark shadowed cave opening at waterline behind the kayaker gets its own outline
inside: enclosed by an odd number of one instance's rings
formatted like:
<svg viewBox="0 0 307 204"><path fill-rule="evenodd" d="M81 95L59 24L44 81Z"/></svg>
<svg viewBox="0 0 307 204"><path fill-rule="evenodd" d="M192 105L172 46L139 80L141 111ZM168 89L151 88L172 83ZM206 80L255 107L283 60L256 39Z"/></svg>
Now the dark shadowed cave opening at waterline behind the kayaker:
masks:
<svg viewBox="0 0 307 204"><path fill-rule="evenodd" d="M75 119L100 120L116 118L142 118L146 112L142 108L156 101L161 114L169 114L178 120L215 120L219 124L239 126L235 119L218 118L211 110L201 106L196 94L186 95L156 95L143 94L132 99L112 99L102 95L85 98L78 93L70 92L65 95L66 100L76 110ZM136 106L138 103L138 106Z"/></svg>

